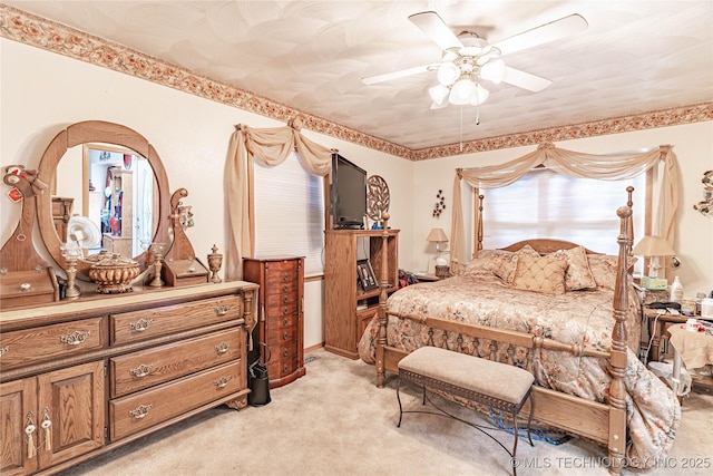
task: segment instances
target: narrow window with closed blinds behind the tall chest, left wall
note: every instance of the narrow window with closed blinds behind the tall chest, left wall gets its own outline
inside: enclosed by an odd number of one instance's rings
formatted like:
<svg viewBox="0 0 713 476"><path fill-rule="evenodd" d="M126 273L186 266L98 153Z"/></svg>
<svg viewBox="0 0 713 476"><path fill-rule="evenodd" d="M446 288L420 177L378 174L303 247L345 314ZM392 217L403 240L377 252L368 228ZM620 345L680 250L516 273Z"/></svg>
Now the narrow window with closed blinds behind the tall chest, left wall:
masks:
<svg viewBox="0 0 713 476"><path fill-rule="evenodd" d="M255 256L304 256L304 272L324 269L323 177L296 153L268 167L255 162Z"/></svg>

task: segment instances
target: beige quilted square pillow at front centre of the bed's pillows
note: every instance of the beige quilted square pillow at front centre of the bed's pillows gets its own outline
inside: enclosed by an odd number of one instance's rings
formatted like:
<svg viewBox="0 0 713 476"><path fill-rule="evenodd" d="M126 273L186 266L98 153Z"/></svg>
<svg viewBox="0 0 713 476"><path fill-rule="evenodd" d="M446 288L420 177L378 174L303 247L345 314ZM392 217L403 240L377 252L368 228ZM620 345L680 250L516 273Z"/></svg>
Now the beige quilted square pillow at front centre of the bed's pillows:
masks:
<svg viewBox="0 0 713 476"><path fill-rule="evenodd" d="M565 271L567 261L553 255L518 256L512 288L544 294L565 293Z"/></svg>

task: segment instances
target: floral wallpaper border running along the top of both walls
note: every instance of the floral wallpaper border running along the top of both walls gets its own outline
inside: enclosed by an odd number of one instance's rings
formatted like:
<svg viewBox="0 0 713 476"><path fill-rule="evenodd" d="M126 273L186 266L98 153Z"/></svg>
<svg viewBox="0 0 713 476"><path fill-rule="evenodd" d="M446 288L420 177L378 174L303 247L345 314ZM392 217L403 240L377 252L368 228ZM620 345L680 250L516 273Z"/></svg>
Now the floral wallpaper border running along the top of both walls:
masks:
<svg viewBox="0 0 713 476"><path fill-rule="evenodd" d="M423 149L410 149L7 4L0 3L0 36L3 38L131 75L283 123L300 116L303 127L306 129L409 161L451 157L537 145L545 142L570 140L713 120L713 101L710 101L470 140L465 142L462 147L460 144L450 144Z"/></svg>

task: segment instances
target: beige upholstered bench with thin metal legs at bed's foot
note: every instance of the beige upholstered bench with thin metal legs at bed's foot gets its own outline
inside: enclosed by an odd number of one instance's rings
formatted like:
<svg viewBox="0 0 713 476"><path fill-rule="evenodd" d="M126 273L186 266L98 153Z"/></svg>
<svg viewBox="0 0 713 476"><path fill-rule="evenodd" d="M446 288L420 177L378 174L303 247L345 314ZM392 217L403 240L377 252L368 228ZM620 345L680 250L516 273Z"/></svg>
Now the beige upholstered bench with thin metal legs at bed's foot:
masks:
<svg viewBox="0 0 713 476"><path fill-rule="evenodd" d="M530 396L535 378L527 370L492 360L458 353L437 347L422 347L399 361L399 383L397 399L399 400L399 422L404 411L401 406L400 388L403 380L421 386L423 405L426 405L426 388L443 391L473 402L507 411L512 416L515 444L510 453L492 435L485 433L496 440L510 455L512 474L516 475L515 451L517 450L518 426L517 415ZM533 446L530 424L533 420L533 401L527 420L527 439Z"/></svg>

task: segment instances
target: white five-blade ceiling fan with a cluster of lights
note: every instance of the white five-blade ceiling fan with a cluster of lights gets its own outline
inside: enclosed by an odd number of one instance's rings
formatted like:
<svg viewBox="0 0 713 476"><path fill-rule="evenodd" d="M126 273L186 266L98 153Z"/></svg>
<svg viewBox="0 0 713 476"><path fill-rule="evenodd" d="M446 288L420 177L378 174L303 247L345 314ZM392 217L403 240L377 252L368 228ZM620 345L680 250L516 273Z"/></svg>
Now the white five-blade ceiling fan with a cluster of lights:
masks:
<svg viewBox="0 0 713 476"><path fill-rule="evenodd" d="M443 50L440 62L367 76L362 81L373 85L420 72L438 71L438 85L429 88L433 100L431 109L446 107L448 104L482 104L489 95L481 85L482 80L495 84L504 81L534 93L545 89L551 80L505 66L502 57L587 28L587 21L582 16L570 14L490 45L476 33L463 32L456 36L434 11L411 14L409 20Z"/></svg>

